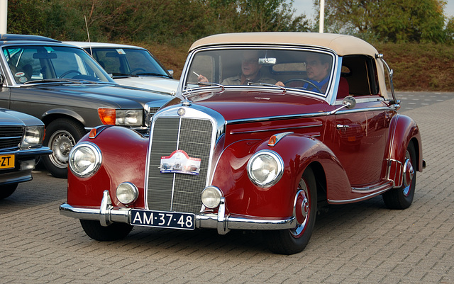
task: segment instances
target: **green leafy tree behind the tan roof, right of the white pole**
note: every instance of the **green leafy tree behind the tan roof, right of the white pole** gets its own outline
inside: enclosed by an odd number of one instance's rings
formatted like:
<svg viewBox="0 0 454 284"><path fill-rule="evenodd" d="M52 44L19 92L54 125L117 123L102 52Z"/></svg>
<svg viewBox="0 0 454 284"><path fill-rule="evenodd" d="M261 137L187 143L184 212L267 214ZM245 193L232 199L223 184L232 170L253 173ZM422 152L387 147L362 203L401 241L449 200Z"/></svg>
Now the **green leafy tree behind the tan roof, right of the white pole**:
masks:
<svg viewBox="0 0 454 284"><path fill-rule="evenodd" d="M444 0L326 0L326 27L365 40L444 42L445 4Z"/></svg>

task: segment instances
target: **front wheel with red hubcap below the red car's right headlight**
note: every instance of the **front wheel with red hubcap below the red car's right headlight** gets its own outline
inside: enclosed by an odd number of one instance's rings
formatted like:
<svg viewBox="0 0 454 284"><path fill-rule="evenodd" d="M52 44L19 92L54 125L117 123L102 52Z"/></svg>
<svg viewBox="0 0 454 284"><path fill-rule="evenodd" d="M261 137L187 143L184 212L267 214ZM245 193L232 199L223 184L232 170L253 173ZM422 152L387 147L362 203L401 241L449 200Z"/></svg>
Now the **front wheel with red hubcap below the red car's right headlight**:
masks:
<svg viewBox="0 0 454 284"><path fill-rule="evenodd" d="M317 212L317 190L314 173L304 171L294 202L297 226L293 229L267 231L265 241L270 251L276 254L296 254L302 251L311 239Z"/></svg>

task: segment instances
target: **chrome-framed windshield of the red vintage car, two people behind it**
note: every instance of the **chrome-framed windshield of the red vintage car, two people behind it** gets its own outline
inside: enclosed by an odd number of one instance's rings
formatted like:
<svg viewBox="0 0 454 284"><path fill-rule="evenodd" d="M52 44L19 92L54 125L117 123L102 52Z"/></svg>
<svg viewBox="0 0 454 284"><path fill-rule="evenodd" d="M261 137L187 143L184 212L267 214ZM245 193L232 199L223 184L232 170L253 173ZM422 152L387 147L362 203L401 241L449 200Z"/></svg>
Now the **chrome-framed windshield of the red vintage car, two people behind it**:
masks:
<svg viewBox="0 0 454 284"><path fill-rule="evenodd" d="M299 49L218 48L196 52L185 86L284 86L326 95L333 55Z"/></svg>

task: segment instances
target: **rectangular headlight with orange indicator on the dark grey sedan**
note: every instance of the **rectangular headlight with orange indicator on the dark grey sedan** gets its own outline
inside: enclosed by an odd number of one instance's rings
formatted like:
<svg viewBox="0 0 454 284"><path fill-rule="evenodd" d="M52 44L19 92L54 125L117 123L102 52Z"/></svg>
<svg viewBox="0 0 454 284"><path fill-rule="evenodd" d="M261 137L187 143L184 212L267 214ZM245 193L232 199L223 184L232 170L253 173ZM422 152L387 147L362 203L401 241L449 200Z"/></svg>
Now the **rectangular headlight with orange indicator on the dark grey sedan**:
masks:
<svg viewBox="0 0 454 284"><path fill-rule="evenodd" d="M143 125L143 109L117 110L114 108L98 108L101 122L106 125L139 127Z"/></svg>

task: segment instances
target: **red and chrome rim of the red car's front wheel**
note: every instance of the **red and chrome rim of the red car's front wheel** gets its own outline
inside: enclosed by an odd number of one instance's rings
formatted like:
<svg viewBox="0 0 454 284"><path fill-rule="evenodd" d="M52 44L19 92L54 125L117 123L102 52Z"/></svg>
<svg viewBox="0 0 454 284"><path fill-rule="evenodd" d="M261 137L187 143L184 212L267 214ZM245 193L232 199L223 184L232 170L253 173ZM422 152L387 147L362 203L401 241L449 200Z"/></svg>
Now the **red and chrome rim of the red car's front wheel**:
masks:
<svg viewBox="0 0 454 284"><path fill-rule="evenodd" d="M297 227L290 229L290 234L295 238L301 237L304 233L311 212L309 188L304 178L301 178L301 181L299 181L298 190L294 204L294 216L297 219Z"/></svg>

